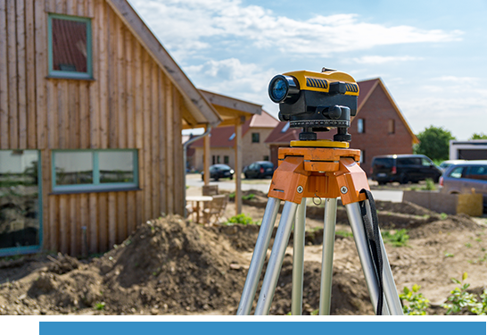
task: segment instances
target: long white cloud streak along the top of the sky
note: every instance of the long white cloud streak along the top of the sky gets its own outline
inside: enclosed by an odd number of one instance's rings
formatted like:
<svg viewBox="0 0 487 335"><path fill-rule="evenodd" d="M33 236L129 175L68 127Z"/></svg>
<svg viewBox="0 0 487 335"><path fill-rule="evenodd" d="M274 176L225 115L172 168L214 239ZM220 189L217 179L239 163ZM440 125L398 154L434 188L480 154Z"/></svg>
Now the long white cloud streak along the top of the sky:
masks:
<svg viewBox="0 0 487 335"><path fill-rule="evenodd" d="M358 14L318 15L309 20L278 16L239 0L132 0L164 45L177 54L210 49L209 38L289 54L351 52L374 46L460 40L459 30L417 29L360 21ZM183 52L184 51L184 52Z"/></svg>

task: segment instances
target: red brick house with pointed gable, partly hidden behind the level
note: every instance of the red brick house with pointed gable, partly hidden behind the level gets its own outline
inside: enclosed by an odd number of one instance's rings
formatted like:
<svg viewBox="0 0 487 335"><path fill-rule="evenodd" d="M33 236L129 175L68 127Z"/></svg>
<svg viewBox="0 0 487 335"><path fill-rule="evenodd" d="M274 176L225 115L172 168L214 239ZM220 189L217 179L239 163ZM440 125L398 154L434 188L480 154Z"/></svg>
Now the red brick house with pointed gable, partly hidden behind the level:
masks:
<svg viewBox="0 0 487 335"><path fill-rule="evenodd" d="M374 156L412 154L412 146L419 140L380 78L359 81L358 84L359 103L357 115L352 118L349 128L350 147L361 150L361 166L369 173ZM270 147L272 163L277 164L278 148L289 147L289 142L297 140L301 132L301 129L289 128L287 124L279 122L265 141ZM321 132L318 138L333 139L335 133L336 130Z"/></svg>

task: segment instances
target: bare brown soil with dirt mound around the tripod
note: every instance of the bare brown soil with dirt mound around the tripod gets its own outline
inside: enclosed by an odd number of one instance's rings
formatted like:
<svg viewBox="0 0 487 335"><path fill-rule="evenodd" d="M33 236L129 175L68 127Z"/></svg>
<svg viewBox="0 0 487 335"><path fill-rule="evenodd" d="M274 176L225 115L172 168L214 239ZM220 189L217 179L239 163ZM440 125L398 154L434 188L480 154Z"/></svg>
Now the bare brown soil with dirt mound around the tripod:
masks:
<svg viewBox="0 0 487 335"><path fill-rule="evenodd" d="M255 197L245 202L243 213L261 220L267 198L258 191L246 193ZM315 217L311 207L306 222L304 315L319 305L323 219L319 208ZM381 221L383 230L409 230L408 246L386 244L387 255L398 289L420 285L432 302L430 314L444 314L440 305L456 287L451 278L467 272L472 289L487 285L485 219L444 217L408 203L377 202L377 208L380 220L386 222L383 226ZM234 214L235 205L230 203L226 216ZM343 233L351 231L346 216L338 215L336 230L332 315L373 315L355 243ZM0 315L235 315L258 233L258 225L202 226L167 216L140 224L122 244L97 257L3 259ZM290 242L270 315L291 310L292 246Z"/></svg>

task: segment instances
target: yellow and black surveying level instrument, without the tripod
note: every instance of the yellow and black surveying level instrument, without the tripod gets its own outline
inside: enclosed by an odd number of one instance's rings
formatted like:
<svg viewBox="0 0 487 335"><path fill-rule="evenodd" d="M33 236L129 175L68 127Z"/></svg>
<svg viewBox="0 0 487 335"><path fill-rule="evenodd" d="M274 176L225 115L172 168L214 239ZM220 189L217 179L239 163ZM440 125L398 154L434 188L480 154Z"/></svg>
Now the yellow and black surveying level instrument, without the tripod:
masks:
<svg viewBox="0 0 487 335"><path fill-rule="evenodd" d="M293 71L270 80L270 99L279 104L279 120L302 128L302 140L317 139L315 131L336 128L335 141L351 140L347 132L357 113L359 85L342 71Z"/></svg>

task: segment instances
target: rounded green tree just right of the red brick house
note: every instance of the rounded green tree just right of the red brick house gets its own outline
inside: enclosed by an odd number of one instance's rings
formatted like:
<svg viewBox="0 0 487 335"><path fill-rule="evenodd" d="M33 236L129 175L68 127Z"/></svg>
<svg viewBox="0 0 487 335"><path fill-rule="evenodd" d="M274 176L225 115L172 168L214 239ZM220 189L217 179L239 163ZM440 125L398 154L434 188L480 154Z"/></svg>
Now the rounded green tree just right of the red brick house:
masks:
<svg viewBox="0 0 487 335"><path fill-rule="evenodd" d="M450 139L456 139L450 130L430 126L417 134L419 144L413 147L415 154L427 155L433 160L447 160L450 151Z"/></svg>

